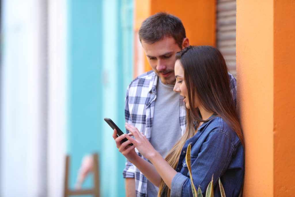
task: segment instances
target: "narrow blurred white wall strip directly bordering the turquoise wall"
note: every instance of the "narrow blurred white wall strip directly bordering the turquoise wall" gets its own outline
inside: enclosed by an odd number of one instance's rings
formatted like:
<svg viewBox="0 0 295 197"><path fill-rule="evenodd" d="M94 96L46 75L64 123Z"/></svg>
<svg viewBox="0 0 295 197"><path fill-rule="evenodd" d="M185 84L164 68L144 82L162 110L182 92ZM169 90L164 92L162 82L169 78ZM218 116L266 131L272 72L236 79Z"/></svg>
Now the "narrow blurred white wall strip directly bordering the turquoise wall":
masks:
<svg viewBox="0 0 295 197"><path fill-rule="evenodd" d="M66 149L66 0L49 1L48 196L63 196Z"/></svg>

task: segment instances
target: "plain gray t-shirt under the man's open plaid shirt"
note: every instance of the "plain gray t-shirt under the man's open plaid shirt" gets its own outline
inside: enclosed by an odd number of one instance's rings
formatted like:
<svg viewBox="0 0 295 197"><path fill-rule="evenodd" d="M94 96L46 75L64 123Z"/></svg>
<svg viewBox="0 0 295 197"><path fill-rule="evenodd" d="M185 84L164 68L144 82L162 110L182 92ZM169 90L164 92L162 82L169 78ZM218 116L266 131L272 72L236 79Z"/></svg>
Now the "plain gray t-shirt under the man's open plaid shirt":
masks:
<svg viewBox="0 0 295 197"><path fill-rule="evenodd" d="M173 92L174 85L165 85L160 77L157 83L153 127L150 143L165 157L172 146L181 137L179 122L179 93ZM147 182L148 197L157 196L158 188L149 180Z"/></svg>

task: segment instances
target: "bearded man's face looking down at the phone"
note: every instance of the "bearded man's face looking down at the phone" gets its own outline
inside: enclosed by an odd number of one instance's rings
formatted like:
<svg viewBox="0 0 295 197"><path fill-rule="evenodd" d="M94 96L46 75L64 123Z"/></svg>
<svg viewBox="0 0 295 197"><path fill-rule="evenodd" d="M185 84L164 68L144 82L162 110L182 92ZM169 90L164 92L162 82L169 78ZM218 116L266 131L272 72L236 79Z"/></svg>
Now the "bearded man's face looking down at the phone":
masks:
<svg viewBox="0 0 295 197"><path fill-rule="evenodd" d="M174 38L166 37L153 44L142 40L142 47L153 71L161 78L163 84L175 84L175 53L181 48Z"/></svg>

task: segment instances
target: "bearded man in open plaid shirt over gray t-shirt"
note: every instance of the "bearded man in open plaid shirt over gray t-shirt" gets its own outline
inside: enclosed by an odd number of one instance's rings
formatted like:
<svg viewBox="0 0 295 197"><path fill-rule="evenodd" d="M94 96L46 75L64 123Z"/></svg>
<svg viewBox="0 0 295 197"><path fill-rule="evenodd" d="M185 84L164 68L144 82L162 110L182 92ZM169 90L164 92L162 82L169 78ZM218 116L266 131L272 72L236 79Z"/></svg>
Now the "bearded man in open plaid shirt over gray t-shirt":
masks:
<svg viewBox="0 0 295 197"><path fill-rule="evenodd" d="M165 157L185 131L186 109L173 87L175 53L189 46L189 39L181 20L167 13L145 19L138 33L152 71L138 76L128 86L125 119ZM236 82L232 75L229 77L236 99ZM157 196L158 188L128 160L123 176L127 197Z"/></svg>

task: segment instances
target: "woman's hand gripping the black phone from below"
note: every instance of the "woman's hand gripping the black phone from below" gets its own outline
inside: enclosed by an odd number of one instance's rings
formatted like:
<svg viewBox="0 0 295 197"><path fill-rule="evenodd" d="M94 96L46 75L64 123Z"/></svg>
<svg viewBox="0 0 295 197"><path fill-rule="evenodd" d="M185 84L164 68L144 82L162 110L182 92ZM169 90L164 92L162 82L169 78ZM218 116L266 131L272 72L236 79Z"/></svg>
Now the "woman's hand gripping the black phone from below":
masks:
<svg viewBox="0 0 295 197"><path fill-rule="evenodd" d="M132 133L129 133L129 134L132 135ZM129 136L129 135L127 135L127 136ZM130 162L132 162L132 160L136 159L139 156L135 152L135 145L132 145L132 146L128 145L128 144L131 144L131 142L129 140L127 140L121 144L122 139L124 139L125 137L126 136L124 136L124 135L121 135L118 137L117 130L114 129L113 138L116 141L116 145L117 145L117 148L119 149L119 152L122 153ZM133 139L133 138L131 138L131 139Z"/></svg>

